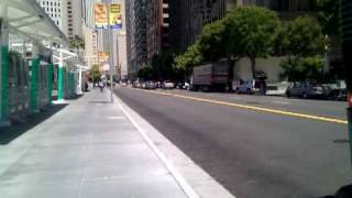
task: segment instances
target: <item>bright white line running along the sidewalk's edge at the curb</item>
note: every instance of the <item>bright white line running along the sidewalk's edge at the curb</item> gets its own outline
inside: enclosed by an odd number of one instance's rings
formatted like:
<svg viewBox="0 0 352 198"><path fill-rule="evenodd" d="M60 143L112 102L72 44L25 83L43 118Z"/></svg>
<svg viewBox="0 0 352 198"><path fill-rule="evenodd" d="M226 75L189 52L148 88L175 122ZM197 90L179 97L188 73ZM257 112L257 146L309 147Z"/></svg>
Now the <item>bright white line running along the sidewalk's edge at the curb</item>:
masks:
<svg viewBox="0 0 352 198"><path fill-rule="evenodd" d="M116 101L120 101L117 96L113 95ZM138 122L133 119L133 117L128 112L124 107L121 105L121 101L118 103L123 113L129 118L132 124L138 129L142 138L150 145L150 147L155 152L157 157L163 162L165 167L174 176L175 180L178 183L180 188L184 190L188 198L200 198L199 195L195 191L195 189L188 184L188 182L180 175L180 173L175 168L175 166L167 160L164 153L157 148L157 146L153 143L153 141L147 136L146 132L143 128L141 128Z"/></svg>

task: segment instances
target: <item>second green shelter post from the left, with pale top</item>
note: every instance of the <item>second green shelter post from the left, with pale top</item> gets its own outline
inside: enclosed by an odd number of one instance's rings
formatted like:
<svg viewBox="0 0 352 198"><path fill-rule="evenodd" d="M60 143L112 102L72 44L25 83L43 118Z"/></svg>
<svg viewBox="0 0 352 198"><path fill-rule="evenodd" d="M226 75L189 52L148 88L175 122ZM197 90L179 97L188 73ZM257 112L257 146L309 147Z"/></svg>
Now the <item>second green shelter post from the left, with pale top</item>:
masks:
<svg viewBox="0 0 352 198"><path fill-rule="evenodd" d="M33 44L32 48L32 66L31 66L31 112L35 112L37 110L37 84L38 84L38 67L40 67L40 58L37 46Z"/></svg>

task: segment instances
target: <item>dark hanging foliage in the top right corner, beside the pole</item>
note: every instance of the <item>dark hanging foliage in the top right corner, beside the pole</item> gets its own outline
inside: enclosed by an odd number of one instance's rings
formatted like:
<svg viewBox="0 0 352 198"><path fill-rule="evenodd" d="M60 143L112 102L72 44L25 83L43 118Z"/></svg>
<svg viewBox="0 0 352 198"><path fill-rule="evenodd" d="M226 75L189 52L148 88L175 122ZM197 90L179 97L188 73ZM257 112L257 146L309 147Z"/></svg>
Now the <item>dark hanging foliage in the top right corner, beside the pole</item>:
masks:
<svg viewBox="0 0 352 198"><path fill-rule="evenodd" d="M339 11L340 3L338 0L317 0L318 14L317 19L322 26L323 34L340 34Z"/></svg>

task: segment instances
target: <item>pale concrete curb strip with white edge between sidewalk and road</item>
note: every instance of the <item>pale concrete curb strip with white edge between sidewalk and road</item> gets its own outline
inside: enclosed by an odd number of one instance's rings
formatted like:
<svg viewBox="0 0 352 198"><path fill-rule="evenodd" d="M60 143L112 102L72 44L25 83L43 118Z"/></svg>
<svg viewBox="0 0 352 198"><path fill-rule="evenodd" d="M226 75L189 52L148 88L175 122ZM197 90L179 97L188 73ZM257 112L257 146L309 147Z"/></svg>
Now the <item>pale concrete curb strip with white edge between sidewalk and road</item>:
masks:
<svg viewBox="0 0 352 198"><path fill-rule="evenodd" d="M113 99L188 198L235 198L116 94Z"/></svg>

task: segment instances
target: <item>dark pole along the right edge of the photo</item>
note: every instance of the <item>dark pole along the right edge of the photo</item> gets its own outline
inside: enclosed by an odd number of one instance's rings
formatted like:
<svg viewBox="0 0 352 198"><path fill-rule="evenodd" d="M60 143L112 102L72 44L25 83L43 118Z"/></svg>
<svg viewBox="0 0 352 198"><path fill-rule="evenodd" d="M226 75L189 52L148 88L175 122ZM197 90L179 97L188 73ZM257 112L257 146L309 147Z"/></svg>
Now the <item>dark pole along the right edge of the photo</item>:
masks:
<svg viewBox="0 0 352 198"><path fill-rule="evenodd" d="M344 74L348 86L348 120L352 163L352 1L341 0L341 35ZM352 165L352 164L351 164Z"/></svg>

